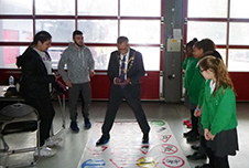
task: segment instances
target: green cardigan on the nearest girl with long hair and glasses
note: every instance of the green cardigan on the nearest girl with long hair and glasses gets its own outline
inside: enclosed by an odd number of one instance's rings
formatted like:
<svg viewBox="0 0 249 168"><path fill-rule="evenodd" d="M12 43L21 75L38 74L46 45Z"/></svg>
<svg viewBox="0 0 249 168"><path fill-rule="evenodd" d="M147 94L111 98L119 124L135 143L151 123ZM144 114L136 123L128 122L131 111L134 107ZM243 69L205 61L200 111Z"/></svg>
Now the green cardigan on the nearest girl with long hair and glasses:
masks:
<svg viewBox="0 0 249 168"><path fill-rule="evenodd" d="M202 125L212 135L237 127L235 92L221 86L215 96L210 94L210 80L205 84Z"/></svg>

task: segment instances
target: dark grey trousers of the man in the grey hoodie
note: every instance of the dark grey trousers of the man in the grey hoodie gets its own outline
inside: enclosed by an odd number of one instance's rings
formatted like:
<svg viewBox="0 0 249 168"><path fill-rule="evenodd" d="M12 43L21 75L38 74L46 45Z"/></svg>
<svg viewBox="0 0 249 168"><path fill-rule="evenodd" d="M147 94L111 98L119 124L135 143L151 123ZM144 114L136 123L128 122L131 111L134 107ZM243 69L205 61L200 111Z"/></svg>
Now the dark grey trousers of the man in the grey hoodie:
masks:
<svg viewBox="0 0 249 168"><path fill-rule="evenodd" d="M91 101L90 83L87 82L83 84L73 84L73 87L71 87L68 91L68 96L69 96L71 120L72 122L77 120L77 103L79 97L82 101L83 117L88 118Z"/></svg>

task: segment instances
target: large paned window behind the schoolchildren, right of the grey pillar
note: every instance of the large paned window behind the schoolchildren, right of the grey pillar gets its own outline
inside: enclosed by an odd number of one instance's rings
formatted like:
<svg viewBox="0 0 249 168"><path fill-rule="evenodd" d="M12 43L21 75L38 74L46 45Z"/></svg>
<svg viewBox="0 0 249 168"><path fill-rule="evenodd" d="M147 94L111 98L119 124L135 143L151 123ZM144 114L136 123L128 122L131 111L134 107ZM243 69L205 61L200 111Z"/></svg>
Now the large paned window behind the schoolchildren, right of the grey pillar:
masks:
<svg viewBox="0 0 249 168"><path fill-rule="evenodd" d="M212 39L230 72L249 72L248 0L185 0L186 42Z"/></svg>

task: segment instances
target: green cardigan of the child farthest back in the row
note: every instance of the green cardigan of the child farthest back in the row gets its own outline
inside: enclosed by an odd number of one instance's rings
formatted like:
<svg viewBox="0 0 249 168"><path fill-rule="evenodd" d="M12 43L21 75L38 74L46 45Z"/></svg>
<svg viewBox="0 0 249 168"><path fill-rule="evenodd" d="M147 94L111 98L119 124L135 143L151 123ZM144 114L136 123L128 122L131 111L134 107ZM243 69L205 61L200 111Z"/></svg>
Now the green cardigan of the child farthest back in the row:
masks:
<svg viewBox="0 0 249 168"><path fill-rule="evenodd" d="M197 62L198 62L198 59L191 56L191 57L186 57L183 63L183 70L185 70L183 86L186 90L188 90L190 87Z"/></svg>

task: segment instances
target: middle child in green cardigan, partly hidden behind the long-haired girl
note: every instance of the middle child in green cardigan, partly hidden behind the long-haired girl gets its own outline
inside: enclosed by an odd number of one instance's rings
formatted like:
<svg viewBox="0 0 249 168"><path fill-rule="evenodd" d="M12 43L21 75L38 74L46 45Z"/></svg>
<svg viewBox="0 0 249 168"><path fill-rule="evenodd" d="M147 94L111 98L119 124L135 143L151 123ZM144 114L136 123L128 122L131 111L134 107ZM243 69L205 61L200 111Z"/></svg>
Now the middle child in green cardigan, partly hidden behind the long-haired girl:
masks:
<svg viewBox="0 0 249 168"><path fill-rule="evenodd" d="M198 42L195 42L193 46L192 54L194 55L195 60L193 60L191 65L192 69L191 71L188 71L191 72L191 75L185 75L185 80L184 80L184 82L187 81L186 84L184 83L184 86L186 87L186 95L188 96L185 99L185 105L186 105L186 102L191 104L190 109L192 111L191 118L193 124L192 130L183 134L183 136L187 138L187 143L196 141L199 138L198 118L194 116L194 112L196 107L197 108L202 107L202 102L203 102L202 91L204 87L205 78L199 73L198 62L206 52L213 52L213 51L215 51L215 43L209 39L203 39ZM197 153L193 154L192 156L195 157ZM191 159L190 157L187 158Z"/></svg>

